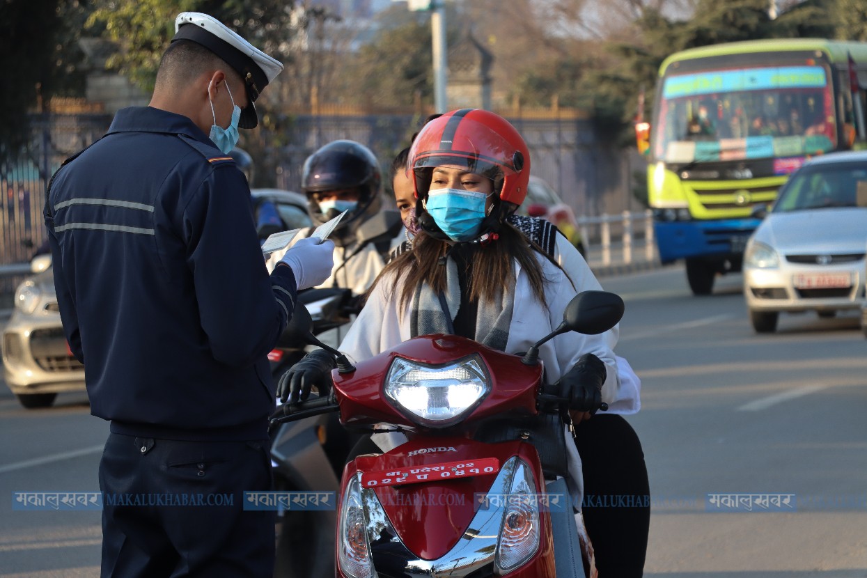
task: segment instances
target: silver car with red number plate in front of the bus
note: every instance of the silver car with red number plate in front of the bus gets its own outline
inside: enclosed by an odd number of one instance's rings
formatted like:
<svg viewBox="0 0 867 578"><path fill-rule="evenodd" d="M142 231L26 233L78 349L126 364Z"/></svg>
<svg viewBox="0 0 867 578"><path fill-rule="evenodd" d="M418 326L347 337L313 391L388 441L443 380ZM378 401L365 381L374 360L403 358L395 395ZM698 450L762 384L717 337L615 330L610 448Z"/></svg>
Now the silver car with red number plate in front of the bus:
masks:
<svg viewBox="0 0 867 578"><path fill-rule="evenodd" d="M867 152L809 160L786 181L744 254L744 295L757 333L779 313L864 305Z"/></svg>

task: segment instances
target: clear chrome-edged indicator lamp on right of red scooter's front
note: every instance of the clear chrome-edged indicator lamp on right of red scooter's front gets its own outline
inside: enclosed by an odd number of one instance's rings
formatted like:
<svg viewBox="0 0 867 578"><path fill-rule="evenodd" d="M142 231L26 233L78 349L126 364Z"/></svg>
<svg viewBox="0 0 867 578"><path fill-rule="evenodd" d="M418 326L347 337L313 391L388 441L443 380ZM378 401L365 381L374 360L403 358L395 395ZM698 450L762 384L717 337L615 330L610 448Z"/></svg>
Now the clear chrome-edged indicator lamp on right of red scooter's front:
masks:
<svg viewBox="0 0 867 578"><path fill-rule="evenodd" d="M530 466L518 460L497 544L497 567L502 572L523 566L539 547L539 506Z"/></svg>

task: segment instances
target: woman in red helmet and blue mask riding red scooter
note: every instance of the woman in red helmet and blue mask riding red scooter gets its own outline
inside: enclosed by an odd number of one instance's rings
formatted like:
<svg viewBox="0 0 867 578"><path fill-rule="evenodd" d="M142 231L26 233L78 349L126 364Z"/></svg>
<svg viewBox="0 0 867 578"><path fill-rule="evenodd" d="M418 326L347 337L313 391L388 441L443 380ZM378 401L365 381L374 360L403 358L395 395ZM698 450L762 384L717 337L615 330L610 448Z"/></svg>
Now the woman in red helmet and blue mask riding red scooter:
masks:
<svg viewBox="0 0 867 578"><path fill-rule="evenodd" d="M409 151L407 176L414 181L417 230L412 244L381 272L342 342L350 359L368 359L434 333L522 353L557 327L574 295L601 289L556 228L514 215L526 196L530 155L518 131L499 115L465 109L430 120ZM589 419L602 401L611 408L637 403L637 392L618 379L618 330L560 334L541 347L547 379L577 400L570 411L576 423ZM281 380L278 395L305 398L311 386L327 383L323 378L331 367L333 358L313 352ZM374 436L384 451L404 440L402 434ZM570 481L580 484L576 445L566 447ZM377 448L354 453L366 451ZM580 494L576 485L570 490L573 498Z"/></svg>

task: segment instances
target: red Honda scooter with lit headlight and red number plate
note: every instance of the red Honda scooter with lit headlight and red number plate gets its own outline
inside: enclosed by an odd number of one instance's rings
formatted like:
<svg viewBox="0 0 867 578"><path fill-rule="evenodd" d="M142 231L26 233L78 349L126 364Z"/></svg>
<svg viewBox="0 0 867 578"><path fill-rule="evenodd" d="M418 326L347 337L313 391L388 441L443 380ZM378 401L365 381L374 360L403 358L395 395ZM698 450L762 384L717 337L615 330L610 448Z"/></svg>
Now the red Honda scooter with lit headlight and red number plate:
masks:
<svg viewBox="0 0 867 578"><path fill-rule="evenodd" d="M333 352L329 396L283 406L272 423L339 411L347 428L408 438L346 465L336 575L594 575L564 480L566 400L544 383L538 347L567 331L603 333L622 316L618 295L585 291L523 357L447 334L355 367Z"/></svg>

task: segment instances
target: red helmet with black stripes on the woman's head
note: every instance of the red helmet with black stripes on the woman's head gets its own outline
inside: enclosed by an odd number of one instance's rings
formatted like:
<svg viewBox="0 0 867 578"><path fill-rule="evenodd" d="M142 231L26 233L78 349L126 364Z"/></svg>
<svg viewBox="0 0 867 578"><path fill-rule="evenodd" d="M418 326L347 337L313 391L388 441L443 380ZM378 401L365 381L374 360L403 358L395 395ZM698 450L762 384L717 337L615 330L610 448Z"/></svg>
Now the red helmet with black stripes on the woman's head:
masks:
<svg viewBox="0 0 867 578"><path fill-rule="evenodd" d="M504 219L527 196L530 152L521 135L499 114L462 108L429 121L409 150L407 175L415 197L427 198L433 167L460 166L493 181Z"/></svg>

